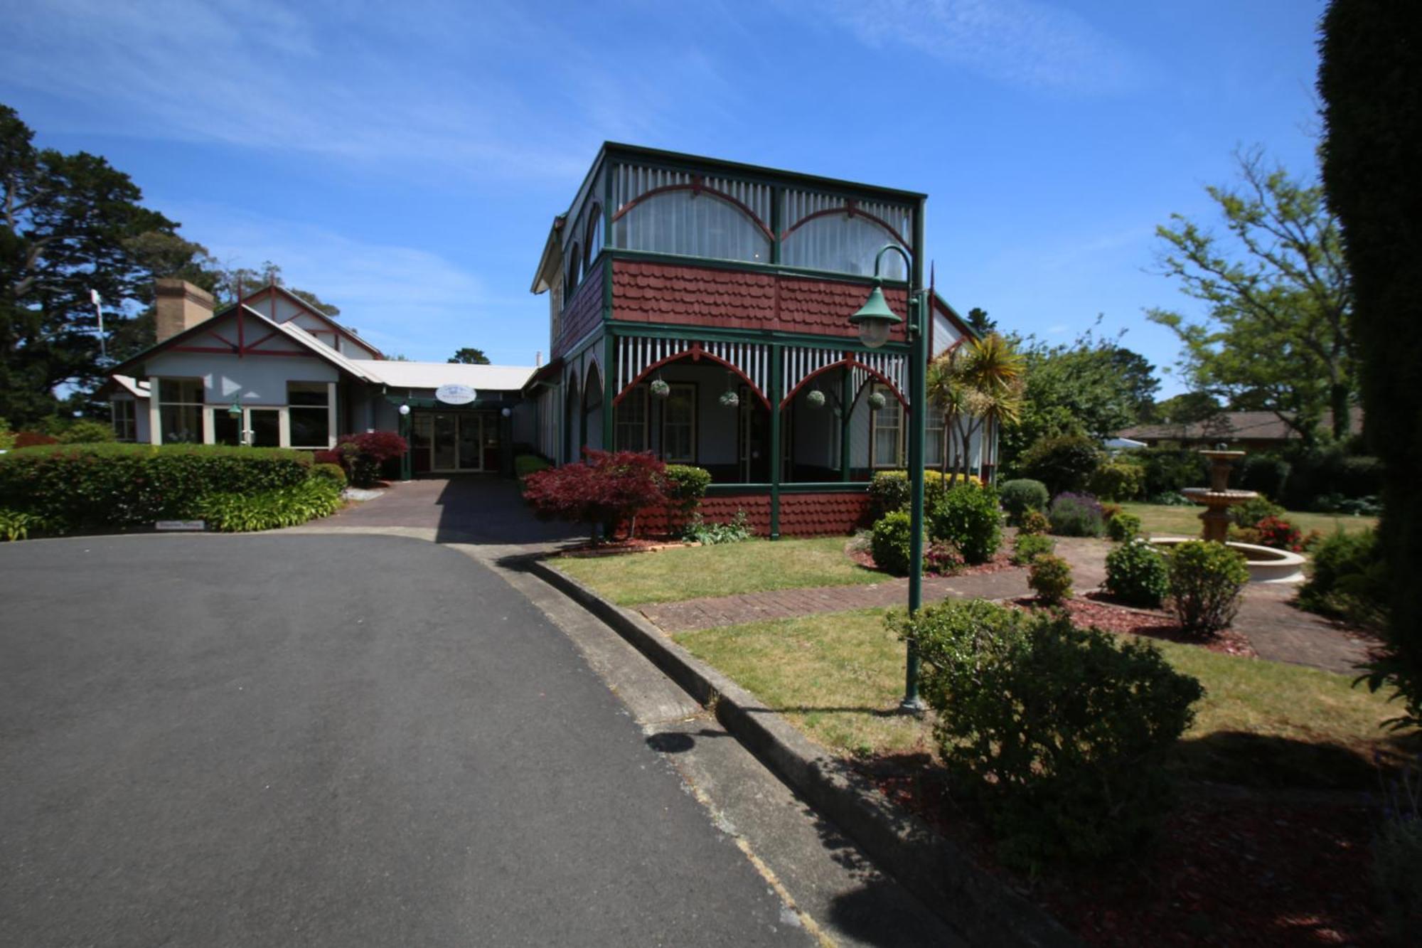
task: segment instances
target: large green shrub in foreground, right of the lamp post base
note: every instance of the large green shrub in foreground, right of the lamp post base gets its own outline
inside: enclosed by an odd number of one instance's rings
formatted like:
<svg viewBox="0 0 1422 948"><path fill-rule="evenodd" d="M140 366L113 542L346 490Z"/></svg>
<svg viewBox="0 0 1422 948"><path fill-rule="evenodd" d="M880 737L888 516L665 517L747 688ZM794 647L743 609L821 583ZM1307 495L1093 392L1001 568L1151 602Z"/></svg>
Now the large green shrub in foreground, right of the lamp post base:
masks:
<svg viewBox="0 0 1422 948"><path fill-rule="evenodd" d="M1148 642L980 599L889 625L917 648L943 760L1008 864L1096 863L1149 840L1170 803L1165 756L1203 696L1196 679Z"/></svg>

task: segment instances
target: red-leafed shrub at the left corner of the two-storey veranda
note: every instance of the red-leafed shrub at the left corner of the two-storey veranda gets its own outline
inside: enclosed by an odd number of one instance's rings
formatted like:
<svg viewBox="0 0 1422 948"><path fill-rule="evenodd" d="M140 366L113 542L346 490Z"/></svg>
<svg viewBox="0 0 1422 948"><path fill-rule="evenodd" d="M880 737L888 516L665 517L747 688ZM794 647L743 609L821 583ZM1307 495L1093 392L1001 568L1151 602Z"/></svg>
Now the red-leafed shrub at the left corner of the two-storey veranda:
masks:
<svg viewBox="0 0 1422 948"><path fill-rule="evenodd" d="M523 478L523 500L542 520L589 524L593 542L627 524L637 530L637 511L665 501L667 467L651 454L583 448L586 463L535 471Z"/></svg>

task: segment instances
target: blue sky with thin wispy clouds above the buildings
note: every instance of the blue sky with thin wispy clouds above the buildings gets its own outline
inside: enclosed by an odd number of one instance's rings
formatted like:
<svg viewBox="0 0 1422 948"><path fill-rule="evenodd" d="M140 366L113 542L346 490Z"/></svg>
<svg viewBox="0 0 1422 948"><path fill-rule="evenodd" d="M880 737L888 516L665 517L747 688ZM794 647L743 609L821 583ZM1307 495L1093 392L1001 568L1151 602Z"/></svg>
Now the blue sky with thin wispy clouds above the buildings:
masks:
<svg viewBox="0 0 1422 948"><path fill-rule="evenodd" d="M1314 174L1322 3L0 0L0 101L235 265L387 352L547 356L528 293L603 139L926 191L940 292L1004 329L1126 329L1153 229L1263 145ZM1165 377L1166 393L1179 383Z"/></svg>

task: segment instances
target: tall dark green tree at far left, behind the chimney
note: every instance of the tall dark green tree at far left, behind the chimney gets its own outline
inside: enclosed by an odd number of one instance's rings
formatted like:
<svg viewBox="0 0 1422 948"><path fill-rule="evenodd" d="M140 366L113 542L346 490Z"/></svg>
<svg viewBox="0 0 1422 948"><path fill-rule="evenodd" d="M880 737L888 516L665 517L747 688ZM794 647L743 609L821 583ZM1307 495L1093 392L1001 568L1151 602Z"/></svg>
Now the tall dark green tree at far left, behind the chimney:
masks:
<svg viewBox="0 0 1422 948"><path fill-rule="evenodd" d="M144 246L176 223L142 206L138 185L104 158L36 148L34 132L0 105L0 417L16 427L53 414L61 387L102 377L97 315L125 332L152 300Z"/></svg>

